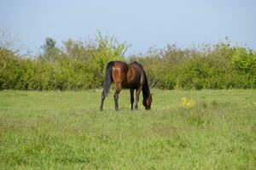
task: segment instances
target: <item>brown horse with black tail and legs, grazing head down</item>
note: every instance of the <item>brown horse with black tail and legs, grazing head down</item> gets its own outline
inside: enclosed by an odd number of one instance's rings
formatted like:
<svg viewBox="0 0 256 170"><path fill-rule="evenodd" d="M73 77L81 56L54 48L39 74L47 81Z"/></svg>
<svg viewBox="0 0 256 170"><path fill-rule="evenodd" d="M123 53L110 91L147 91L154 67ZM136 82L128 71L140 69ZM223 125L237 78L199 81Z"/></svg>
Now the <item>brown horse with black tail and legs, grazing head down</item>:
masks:
<svg viewBox="0 0 256 170"><path fill-rule="evenodd" d="M134 90L136 89L135 110L138 109L138 100L141 91L143 91L143 105L146 110L151 109L152 95L148 86L148 78L143 66L136 61L127 65L122 61L110 61L106 68L104 89L102 91L102 104L100 111L103 111L103 103L106 98L111 83L115 84L115 92L113 94L115 110L119 111L119 93L122 88L130 88L131 94L131 110L133 110Z"/></svg>

